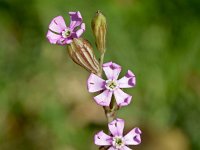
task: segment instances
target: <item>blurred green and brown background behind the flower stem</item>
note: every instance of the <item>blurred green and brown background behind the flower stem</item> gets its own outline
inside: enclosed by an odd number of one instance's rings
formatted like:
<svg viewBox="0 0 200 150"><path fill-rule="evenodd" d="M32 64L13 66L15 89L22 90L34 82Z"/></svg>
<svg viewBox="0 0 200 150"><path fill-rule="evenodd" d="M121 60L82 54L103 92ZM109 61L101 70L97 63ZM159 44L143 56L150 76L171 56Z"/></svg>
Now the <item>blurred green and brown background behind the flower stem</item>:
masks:
<svg viewBox="0 0 200 150"><path fill-rule="evenodd" d="M199 0L1 0L0 150L97 149L93 135L107 125L86 90L89 73L46 39L53 17L69 22L77 10L93 46L91 19L104 13L105 60L137 76L118 112L126 132L143 131L133 148L200 150Z"/></svg>

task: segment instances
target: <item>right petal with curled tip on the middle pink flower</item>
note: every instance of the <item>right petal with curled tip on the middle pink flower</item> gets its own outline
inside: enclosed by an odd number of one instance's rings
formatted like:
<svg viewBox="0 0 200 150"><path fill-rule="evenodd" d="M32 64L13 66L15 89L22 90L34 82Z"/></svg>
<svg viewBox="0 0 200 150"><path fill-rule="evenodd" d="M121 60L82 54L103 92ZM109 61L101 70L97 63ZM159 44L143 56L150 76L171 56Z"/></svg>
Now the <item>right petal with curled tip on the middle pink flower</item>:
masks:
<svg viewBox="0 0 200 150"><path fill-rule="evenodd" d="M136 84L135 75L130 70L128 70L126 75L118 80L118 84L120 88L131 88L135 86Z"/></svg>

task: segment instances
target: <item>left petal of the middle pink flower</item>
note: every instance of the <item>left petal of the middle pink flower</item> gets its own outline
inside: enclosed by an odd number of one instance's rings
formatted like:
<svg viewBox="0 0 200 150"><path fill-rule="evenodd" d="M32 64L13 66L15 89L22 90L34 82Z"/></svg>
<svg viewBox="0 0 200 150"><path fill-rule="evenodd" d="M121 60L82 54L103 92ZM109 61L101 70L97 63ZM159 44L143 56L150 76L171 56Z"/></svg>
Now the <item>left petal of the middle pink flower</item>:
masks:
<svg viewBox="0 0 200 150"><path fill-rule="evenodd" d="M105 89L105 80L92 73L88 78L87 88L89 92L101 91Z"/></svg>

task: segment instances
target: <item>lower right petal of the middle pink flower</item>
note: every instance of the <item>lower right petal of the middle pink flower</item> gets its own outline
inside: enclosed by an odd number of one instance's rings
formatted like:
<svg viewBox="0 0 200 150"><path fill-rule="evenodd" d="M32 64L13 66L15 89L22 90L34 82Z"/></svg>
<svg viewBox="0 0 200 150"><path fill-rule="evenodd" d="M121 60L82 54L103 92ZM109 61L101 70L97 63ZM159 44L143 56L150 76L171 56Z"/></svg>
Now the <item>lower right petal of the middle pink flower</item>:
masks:
<svg viewBox="0 0 200 150"><path fill-rule="evenodd" d="M131 95L123 92L121 89L116 89L114 95L118 106L126 106L130 104L132 99Z"/></svg>

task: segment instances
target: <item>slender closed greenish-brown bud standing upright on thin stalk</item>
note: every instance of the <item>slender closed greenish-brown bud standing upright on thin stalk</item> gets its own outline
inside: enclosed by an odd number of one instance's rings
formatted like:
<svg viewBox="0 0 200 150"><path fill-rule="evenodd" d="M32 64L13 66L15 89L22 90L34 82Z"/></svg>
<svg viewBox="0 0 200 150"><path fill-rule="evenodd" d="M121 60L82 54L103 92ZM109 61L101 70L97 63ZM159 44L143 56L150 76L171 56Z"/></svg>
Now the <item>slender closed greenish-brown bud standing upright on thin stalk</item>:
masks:
<svg viewBox="0 0 200 150"><path fill-rule="evenodd" d="M106 18L100 12L97 11L95 17L92 20L92 31L95 36L95 42L97 49L101 53L105 53L106 50Z"/></svg>

